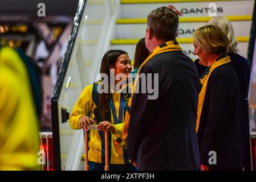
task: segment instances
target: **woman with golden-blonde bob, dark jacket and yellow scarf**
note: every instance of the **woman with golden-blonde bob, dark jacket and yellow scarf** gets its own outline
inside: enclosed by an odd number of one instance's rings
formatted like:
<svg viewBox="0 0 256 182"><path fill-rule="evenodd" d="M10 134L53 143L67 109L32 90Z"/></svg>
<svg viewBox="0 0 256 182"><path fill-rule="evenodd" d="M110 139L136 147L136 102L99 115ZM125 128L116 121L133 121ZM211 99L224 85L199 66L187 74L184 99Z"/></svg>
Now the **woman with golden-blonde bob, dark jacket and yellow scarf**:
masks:
<svg viewBox="0 0 256 182"><path fill-rule="evenodd" d="M229 40L221 28L214 25L198 28L193 37L194 54L208 67L200 80L202 89L197 109L201 169L242 169L239 85L226 54Z"/></svg>

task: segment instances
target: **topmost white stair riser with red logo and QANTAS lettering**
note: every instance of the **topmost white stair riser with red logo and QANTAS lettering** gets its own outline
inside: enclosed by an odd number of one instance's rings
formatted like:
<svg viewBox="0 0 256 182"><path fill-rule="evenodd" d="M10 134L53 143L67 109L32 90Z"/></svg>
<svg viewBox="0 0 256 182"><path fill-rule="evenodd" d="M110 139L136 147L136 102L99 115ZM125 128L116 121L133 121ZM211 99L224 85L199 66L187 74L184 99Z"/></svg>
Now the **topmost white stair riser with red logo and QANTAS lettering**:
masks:
<svg viewBox="0 0 256 182"><path fill-rule="evenodd" d="M123 4L120 6L120 15L118 18L147 18L148 14L157 7L172 5L176 7L184 17L205 17L209 16L210 8L209 1L176 1L175 3L139 3L139 4ZM236 15L251 15L253 14L253 0L245 1L212 1L216 4L217 16L236 16Z"/></svg>

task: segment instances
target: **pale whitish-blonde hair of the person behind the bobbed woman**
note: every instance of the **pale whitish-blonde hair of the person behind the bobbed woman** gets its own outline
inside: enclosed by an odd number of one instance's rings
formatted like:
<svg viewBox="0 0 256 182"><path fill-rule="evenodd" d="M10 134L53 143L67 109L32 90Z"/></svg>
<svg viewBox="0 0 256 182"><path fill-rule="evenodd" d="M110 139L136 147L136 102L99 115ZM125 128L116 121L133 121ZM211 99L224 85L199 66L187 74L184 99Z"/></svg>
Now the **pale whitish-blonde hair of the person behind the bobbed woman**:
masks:
<svg viewBox="0 0 256 182"><path fill-rule="evenodd" d="M237 48L237 39L235 38L234 29L230 20L224 16L214 16L208 22L208 24L215 24L227 35L227 38L229 39L229 47L227 48L227 52L237 53L239 51Z"/></svg>

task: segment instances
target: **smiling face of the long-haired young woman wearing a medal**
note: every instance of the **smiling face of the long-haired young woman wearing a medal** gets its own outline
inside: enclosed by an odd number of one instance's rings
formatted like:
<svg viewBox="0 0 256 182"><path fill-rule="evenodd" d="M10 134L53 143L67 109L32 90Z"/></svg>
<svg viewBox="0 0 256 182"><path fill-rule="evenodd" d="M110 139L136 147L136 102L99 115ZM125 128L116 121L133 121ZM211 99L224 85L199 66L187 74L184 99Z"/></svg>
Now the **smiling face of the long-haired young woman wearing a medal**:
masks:
<svg viewBox="0 0 256 182"><path fill-rule="evenodd" d="M114 68L115 68L115 76L119 73L123 73L128 78L129 73L131 73L132 71L132 65L131 65L131 60L129 59L129 56L122 54L119 57L117 57L117 61Z"/></svg>

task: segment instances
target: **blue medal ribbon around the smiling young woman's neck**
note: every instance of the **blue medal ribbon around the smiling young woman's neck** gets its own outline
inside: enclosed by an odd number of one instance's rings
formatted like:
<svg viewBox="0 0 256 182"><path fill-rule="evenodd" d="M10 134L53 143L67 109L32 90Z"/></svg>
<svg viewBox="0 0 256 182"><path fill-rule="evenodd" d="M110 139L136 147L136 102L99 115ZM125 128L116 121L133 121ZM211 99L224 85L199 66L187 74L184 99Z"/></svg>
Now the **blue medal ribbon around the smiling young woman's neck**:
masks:
<svg viewBox="0 0 256 182"><path fill-rule="evenodd" d="M115 125L118 124L118 123L122 123L123 122L123 110L124 110L124 94L121 93L118 119L117 119L117 115L116 115L116 108L115 108L115 104L114 104L114 101L113 101L112 94L111 94L111 97L110 97L110 100L109 100L109 105L110 105L111 110L112 110Z"/></svg>

